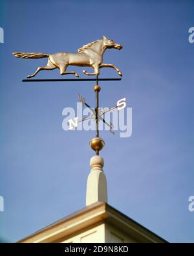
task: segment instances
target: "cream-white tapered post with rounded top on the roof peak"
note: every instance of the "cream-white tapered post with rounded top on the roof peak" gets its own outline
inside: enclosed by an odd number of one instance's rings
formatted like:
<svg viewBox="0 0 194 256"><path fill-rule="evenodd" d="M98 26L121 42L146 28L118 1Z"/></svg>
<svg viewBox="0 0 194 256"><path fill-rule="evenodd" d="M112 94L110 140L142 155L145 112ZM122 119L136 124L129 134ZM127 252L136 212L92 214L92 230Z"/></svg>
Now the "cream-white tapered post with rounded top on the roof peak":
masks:
<svg viewBox="0 0 194 256"><path fill-rule="evenodd" d="M102 156L92 156L91 172L87 178L86 206L96 202L107 203L107 180L103 173Z"/></svg>

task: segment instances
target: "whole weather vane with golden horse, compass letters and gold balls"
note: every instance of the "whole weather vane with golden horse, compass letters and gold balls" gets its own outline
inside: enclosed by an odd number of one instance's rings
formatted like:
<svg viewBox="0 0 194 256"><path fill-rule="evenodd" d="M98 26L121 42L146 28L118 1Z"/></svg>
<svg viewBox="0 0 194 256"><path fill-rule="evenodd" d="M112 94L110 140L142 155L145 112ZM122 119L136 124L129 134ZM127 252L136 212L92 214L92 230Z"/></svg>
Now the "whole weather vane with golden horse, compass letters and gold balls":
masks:
<svg viewBox="0 0 194 256"><path fill-rule="evenodd" d="M93 118L96 122L96 137L90 141L90 145L92 150L96 152L96 155L99 155L99 151L102 150L103 146L105 145L102 138L99 137L99 129L98 129L98 123L99 121L103 121L107 126L109 126L110 132L114 134L113 132L113 124L110 122L105 121L103 119L103 114L105 114L107 111L112 111L114 109L120 110L123 107L120 106L120 102L125 102L125 98L118 100L116 106L113 108L109 108L108 110L101 111L99 108L99 92L101 87L98 85L98 81L114 81L114 80L121 80L121 78L98 78L100 75L100 69L102 67L111 67L115 69L118 73L118 75L122 76L122 72L120 69L115 67L113 64L104 64L103 63L103 52L105 52L106 49L122 49L122 45L119 43L115 43L113 40L108 39L107 37L103 36L103 39L92 41L91 43L87 43L87 45L83 45L80 49L78 49L78 52L72 53L72 52L57 52L55 54L45 54L41 52L13 52L14 56L17 58L48 58L47 66L45 67L38 67L36 72L34 72L32 75L28 75L27 78L32 78L36 76L39 71L41 70L53 70L58 68L60 71L60 75L68 75L73 74L76 77L79 77L78 73L75 71L67 71L67 67L69 65L73 66L81 66L81 67L92 67L94 69L94 73L88 73L87 71L83 70L83 73L85 75L92 75L96 76L94 79L23 79L23 82L49 82L49 81L96 81L96 85L94 86L94 92L96 93L96 106L95 108L91 108L86 102L83 97L79 94L79 101L82 102L83 105L90 108L92 111L92 115L89 115L88 117L85 117L81 120L78 120L78 117L75 119L69 120L69 130L72 130L72 128L78 126L78 122L85 121L87 119ZM123 105L125 106L125 105Z"/></svg>

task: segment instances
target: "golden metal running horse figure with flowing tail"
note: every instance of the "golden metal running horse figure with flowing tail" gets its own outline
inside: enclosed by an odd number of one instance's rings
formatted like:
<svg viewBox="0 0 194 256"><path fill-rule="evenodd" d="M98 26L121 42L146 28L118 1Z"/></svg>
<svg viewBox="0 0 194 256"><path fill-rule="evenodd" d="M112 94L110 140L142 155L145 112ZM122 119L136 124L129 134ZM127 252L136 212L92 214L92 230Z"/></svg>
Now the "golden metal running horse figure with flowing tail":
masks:
<svg viewBox="0 0 194 256"><path fill-rule="evenodd" d="M103 63L103 52L106 49L122 49L122 45L119 43L115 43L113 40L109 40L105 36L103 39L92 41L92 43L88 43L87 45L83 45L80 49L78 49L78 53L72 52L57 52L54 54L45 54L40 52L13 52L14 56L17 58L48 58L48 63L46 67L38 67L34 74L27 76L27 78L31 78L36 76L37 73L41 70L53 70L58 68L60 70L61 75L74 74L75 76L79 76L78 73L74 71L66 71L69 65L81 66L81 67L92 67L94 69L94 73L88 73L83 70L85 75L96 75L100 74L99 69L102 67L112 67L118 72L118 75L122 76L122 72L115 67L113 64L104 64Z"/></svg>

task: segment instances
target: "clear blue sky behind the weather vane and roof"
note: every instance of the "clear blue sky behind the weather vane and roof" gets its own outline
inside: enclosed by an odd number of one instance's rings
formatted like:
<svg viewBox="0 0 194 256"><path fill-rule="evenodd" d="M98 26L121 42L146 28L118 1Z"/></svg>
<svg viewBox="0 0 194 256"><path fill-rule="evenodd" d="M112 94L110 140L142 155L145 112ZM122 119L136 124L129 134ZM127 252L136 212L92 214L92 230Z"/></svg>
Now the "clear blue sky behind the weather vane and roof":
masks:
<svg viewBox="0 0 194 256"><path fill-rule="evenodd" d="M1 240L16 242L85 206L94 137L61 127L62 110L76 107L76 93L94 106L94 84L23 83L47 60L20 60L11 52L76 52L105 34L124 45L104 54L124 76L100 83L100 106L126 97L133 108L131 137L100 134L109 204L169 242L193 242L193 1L0 3ZM81 75L81 67L74 69ZM118 75L102 69L100 77ZM37 78L61 77L54 70Z"/></svg>

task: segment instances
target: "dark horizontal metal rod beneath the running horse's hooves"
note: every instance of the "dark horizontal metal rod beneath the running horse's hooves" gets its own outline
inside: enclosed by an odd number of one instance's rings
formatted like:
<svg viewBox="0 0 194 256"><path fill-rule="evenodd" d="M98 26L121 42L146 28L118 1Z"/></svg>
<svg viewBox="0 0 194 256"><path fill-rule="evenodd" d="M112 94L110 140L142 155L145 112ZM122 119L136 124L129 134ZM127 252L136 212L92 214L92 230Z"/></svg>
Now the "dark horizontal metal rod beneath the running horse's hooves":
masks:
<svg viewBox="0 0 194 256"><path fill-rule="evenodd" d="M22 82L81 82L81 81L120 81L122 78L78 78L78 79L23 79Z"/></svg>

